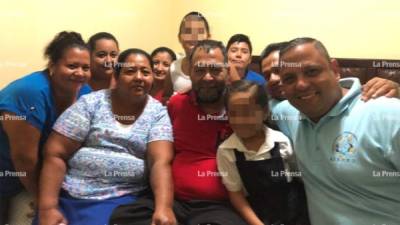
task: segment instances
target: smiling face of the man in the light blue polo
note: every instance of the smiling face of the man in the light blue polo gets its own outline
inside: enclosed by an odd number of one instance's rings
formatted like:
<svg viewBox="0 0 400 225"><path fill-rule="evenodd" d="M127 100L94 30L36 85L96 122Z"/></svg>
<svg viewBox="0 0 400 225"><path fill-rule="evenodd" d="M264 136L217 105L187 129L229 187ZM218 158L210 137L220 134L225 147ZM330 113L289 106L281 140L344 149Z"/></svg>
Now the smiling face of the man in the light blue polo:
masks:
<svg viewBox="0 0 400 225"><path fill-rule="evenodd" d="M313 43L291 49L281 60L285 96L311 120L319 121L342 97L336 61L328 62Z"/></svg>

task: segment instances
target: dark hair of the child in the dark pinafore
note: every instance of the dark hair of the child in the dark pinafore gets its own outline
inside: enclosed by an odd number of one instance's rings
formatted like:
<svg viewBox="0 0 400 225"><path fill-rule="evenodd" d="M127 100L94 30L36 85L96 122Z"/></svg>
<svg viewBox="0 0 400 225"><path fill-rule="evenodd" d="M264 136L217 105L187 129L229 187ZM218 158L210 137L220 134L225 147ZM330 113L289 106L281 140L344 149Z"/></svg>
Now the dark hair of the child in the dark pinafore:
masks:
<svg viewBox="0 0 400 225"><path fill-rule="evenodd" d="M231 85L227 87L226 94L224 96L225 107L228 108L229 98L232 94L248 92L251 88L256 88L254 92L256 104L263 109L268 108L268 94L265 86L248 80L237 80L232 82Z"/></svg>

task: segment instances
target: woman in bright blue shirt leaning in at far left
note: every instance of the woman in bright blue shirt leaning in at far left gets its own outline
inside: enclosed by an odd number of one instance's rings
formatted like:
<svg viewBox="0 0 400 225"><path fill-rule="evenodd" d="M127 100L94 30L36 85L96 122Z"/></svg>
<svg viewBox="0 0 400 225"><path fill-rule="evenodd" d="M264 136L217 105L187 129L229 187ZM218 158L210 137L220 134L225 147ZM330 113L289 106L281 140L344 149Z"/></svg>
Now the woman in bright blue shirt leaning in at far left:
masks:
<svg viewBox="0 0 400 225"><path fill-rule="evenodd" d="M79 33L57 34L44 55L44 71L0 91L0 208L7 209L7 202L23 189L36 198L41 150L53 123L90 92L89 51Z"/></svg>

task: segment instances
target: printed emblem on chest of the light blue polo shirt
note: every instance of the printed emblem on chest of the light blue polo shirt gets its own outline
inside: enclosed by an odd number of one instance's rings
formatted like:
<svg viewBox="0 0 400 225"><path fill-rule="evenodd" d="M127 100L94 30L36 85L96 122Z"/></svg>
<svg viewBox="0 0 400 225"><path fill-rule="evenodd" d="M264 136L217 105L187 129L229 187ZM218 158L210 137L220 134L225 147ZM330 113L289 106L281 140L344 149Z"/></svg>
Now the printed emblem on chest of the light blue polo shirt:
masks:
<svg viewBox="0 0 400 225"><path fill-rule="evenodd" d="M344 132L333 142L331 161L354 163L356 161L358 140L351 132Z"/></svg>

